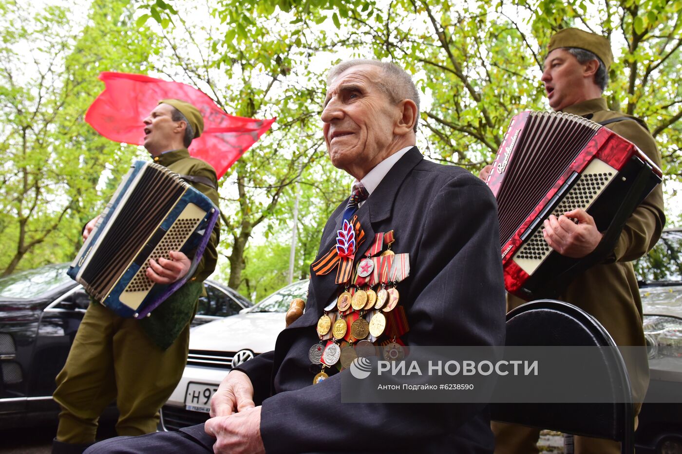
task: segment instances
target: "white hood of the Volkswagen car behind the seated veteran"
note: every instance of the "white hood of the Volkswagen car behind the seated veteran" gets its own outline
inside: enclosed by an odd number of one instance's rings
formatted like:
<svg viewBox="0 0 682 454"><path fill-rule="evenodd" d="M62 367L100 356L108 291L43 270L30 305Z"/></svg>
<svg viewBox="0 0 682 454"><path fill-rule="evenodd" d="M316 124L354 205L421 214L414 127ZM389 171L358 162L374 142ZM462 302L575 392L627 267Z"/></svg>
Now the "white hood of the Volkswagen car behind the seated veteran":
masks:
<svg viewBox="0 0 682 454"><path fill-rule="evenodd" d="M285 327L284 312L237 314L202 324L190 332L190 350L269 352Z"/></svg>

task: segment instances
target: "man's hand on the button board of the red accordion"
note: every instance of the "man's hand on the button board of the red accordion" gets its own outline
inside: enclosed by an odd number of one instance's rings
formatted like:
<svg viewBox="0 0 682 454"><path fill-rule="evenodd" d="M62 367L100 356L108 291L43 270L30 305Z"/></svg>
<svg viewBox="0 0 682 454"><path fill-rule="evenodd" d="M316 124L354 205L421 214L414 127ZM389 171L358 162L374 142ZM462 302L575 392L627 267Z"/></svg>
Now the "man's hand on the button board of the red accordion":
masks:
<svg viewBox="0 0 682 454"><path fill-rule="evenodd" d="M578 224L574 224L569 217L578 220ZM572 258L587 256L602 241L602 233L597 230L594 218L580 208L568 211L559 218L550 215L544 222L542 236L552 249Z"/></svg>

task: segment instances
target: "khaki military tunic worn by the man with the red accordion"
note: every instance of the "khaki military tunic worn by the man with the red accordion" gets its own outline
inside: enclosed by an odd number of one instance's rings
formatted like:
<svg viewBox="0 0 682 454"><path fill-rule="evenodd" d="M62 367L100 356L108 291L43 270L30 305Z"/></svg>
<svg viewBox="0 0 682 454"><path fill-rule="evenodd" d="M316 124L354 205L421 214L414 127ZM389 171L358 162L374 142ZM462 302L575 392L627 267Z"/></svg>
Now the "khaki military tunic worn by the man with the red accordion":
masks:
<svg viewBox="0 0 682 454"><path fill-rule="evenodd" d="M599 123L617 117L629 117L606 108L606 100L597 98L569 106L563 110ZM657 166L661 155L649 131L634 117L606 125L642 150ZM644 346L642 301L632 260L647 254L661 236L666 222L663 189L658 185L632 213L610 256L578 275L558 299L572 303L591 314L604 325L619 346ZM507 310L526 301L509 295ZM634 402L642 402L649 386L649 365L636 361L628 364Z"/></svg>

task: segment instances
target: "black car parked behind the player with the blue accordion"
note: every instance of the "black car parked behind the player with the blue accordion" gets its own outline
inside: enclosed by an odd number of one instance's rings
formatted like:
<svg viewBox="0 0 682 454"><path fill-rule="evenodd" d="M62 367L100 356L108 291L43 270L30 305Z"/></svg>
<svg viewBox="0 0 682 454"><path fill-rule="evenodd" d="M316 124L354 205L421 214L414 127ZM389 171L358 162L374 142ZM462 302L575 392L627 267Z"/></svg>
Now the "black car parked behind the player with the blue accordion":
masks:
<svg viewBox="0 0 682 454"><path fill-rule="evenodd" d="M0 278L0 427L56 421L55 377L89 304L67 269L53 264ZM252 306L218 282L204 286L193 326Z"/></svg>

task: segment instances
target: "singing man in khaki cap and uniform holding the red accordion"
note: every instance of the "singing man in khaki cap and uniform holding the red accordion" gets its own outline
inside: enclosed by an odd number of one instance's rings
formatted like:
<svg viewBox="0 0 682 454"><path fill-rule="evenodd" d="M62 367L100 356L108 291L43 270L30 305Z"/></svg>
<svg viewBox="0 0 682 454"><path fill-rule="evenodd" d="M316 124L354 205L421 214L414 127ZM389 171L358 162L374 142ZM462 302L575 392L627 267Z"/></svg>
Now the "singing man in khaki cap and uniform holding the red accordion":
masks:
<svg viewBox="0 0 682 454"><path fill-rule="evenodd" d="M634 143L649 159L661 166L661 156L647 126L640 119L608 110L602 93L613 61L606 37L579 29L563 29L550 40L542 81L550 107L556 112L578 115L604 125ZM491 166L481 171L486 179ZM574 224L570 218L577 220ZM642 303L632 260L647 254L658 241L665 224L662 187L655 189L627 218L615 247L600 262L579 273L557 299L581 307L597 318L619 346L646 346L642 329ZM544 221L545 241L563 256L582 258L591 254L602 240L593 217L575 209ZM525 303L507 295L507 311ZM632 383L633 402L642 402L649 385L647 358L626 361ZM635 412L641 404L635 404ZM636 421L635 421L636 427ZM492 423L496 454L538 453L539 429ZM619 453L612 440L574 437L580 453Z"/></svg>

